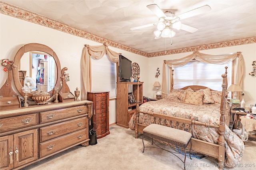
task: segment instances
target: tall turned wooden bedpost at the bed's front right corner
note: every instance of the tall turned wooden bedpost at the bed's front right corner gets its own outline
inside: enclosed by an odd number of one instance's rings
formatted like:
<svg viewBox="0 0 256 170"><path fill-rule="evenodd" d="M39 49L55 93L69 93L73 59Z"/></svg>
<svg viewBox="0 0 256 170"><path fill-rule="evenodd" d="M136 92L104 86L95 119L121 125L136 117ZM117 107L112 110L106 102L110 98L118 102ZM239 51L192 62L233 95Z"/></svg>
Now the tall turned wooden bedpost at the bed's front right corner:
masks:
<svg viewBox="0 0 256 170"><path fill-rule="evenodd" d="M222 170L225 163L225 139L224 139L224 133L225 133L225 110L226 110L226 78L227 74L221 75L223 78L222 82L222 96L221 96L221 103L220 103L220 126L219 126L219 169Z"/></svg>

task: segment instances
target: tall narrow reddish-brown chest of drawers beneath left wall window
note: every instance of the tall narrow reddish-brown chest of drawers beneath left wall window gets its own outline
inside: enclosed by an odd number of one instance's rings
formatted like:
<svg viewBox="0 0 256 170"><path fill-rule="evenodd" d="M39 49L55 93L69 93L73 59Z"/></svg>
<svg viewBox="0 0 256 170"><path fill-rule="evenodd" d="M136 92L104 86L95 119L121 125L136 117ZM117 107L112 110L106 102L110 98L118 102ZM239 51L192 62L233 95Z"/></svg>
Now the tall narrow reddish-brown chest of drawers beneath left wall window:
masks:
<svg viewBox="0 0 256 170"><path fill-rule="evenodd" d="M88 92L87 100L93 101L91 122L95 122L97 139L105 137L109 132L109 92Z"/></svg>

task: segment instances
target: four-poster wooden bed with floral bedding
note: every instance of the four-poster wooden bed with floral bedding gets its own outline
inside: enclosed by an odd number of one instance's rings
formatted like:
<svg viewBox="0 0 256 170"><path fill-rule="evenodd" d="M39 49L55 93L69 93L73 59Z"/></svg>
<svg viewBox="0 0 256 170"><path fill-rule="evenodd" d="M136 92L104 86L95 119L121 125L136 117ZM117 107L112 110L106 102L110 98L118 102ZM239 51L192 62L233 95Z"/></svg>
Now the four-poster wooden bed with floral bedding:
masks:
<svg viewBox="0 0 256 170"><path fill-rule="evenodd" d="M130 129L135 130L136 138L152 123L188 131L192 133L194 152L218 159L220 169L234 167L242 158L244 143L228 128L230 109L226 104L226 77L226 73L222 74L222 92L204 86L187 86L172 90L164 99L146 102L140 107L138 96L136 112L129 122ZM202 89L204 92L200 92ZM200 104L190 104L186 99L188 94L194 93L207 96L206 91L212 94L213 103L205 102L210 98L202 99ZM183 101L181 98L184 96Z"/></svg>

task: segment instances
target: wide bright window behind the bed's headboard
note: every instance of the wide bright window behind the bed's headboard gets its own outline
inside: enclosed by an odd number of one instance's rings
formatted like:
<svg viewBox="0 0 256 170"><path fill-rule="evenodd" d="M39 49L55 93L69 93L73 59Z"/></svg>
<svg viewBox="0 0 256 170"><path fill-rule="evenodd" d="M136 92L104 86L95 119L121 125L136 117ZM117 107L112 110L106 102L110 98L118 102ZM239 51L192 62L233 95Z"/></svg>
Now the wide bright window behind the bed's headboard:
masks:
<svg viewBox="0 0 256 170"><path fill-rule="evenodd" d="M228 64L206 64L196 60L188 64L173 68L173 88L182 88L189 85L201 85L213 90L222 91L222 77L225 73L225 66L228 66L228 85L231 84L232 62Z"/></svg>

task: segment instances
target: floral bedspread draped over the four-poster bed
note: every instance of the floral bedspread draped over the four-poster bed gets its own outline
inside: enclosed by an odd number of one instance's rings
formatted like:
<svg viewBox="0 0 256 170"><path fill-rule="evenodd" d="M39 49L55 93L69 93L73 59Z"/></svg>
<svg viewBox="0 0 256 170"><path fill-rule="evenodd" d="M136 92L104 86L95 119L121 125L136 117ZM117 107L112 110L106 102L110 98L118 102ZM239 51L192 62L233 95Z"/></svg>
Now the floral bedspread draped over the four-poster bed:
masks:
<svg viewBox="0 0 256 170"><path fill-rule="evenodd" d="M171 115L176 117L188 118L203 123L211 123L214 125L219 125L220 120L220 104L204 104L204 105L192 105L184 104L178 99L162 99L157 101L146 102L140 106L140 111L159 113L164 115ZM225 150L226 150L226 166L234 167L240 162L243 152L244 143L242 140L234 134L227 125L229 125L229 108L226 107L226 130L225 130ZM134 130L136 115L132 116L129 122L129 128ZM176 127L176 122L166 121L163 119L156 118L156 123L161 125L166 125L169 127ZM154 117L140 113L139 123L144 125L150 125L154 123ZM178 124L178 128L189 131L190 125L182 123ZM191 127L192 137L200 139L203 141L208 141L211 143L218 144L219 133L218 129L212 127L204 127L201 125L193 125Z"/></svg>

